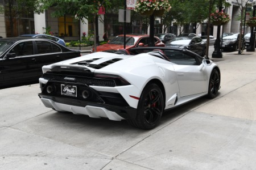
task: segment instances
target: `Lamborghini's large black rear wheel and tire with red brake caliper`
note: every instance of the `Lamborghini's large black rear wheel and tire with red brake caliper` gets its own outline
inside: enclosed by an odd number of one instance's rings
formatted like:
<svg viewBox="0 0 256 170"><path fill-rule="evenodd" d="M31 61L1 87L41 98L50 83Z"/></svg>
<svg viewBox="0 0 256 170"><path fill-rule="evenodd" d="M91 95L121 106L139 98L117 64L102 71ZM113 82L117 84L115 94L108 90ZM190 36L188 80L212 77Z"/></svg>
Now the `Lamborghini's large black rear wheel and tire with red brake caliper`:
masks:
<svg viewBox="0 0 256 170"><path fill-rule="evenodd" d="M137 116L127 120L131 126L141 129L152 129L158 125L164 110L163 93L158 85L148 84L139 99Z"/></svg>

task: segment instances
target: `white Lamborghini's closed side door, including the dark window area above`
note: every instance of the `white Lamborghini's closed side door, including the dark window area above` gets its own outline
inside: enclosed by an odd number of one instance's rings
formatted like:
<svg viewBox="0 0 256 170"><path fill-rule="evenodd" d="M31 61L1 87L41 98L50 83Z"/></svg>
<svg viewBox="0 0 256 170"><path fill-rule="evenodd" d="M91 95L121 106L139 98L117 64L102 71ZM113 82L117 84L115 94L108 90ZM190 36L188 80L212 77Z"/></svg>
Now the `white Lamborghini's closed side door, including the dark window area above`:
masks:
<svg viewBox="0 0 256 170"><path fill-rule="evenodd" d="M188 52L175 51L169 57L176 63L174 70L179 84L180 96L190 96L207 92L207 73L201 69L201 59Z"/></svg>

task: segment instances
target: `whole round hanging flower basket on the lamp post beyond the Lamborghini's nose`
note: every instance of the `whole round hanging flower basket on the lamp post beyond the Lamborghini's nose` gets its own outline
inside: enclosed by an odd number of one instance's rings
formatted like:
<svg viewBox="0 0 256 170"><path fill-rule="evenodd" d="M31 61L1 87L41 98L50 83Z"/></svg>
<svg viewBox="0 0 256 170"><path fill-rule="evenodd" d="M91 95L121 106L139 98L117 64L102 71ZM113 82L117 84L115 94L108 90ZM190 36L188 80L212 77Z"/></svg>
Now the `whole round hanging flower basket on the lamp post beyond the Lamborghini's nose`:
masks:
<svg viewBox="0 0 256 170"><path fill-rule="evenodd" d="M230 17L228 14L223 11L218 12L218 10L212 14L210 14L210 22L213 25L223 25L230 21Z"/></svg>

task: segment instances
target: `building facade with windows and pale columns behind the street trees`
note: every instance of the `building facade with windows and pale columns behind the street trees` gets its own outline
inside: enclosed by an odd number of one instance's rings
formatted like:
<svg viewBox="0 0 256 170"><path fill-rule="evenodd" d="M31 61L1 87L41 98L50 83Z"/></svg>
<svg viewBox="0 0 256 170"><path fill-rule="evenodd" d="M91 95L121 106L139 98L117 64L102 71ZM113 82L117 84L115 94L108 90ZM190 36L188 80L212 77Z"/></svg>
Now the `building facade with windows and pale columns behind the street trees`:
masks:
<svg viewBox="0 0 256 170"><path fill-rule="evenodd" d="M228 1L228 0L227 0ZM239 0L238 0L239 1ZM249 0L249 2L252 0ZM3 5L4 1L0 0L0 5ZM238 16L241 15L239 4L237 0L229 0L230 7L225 8L225 12L229 14L231 20L229 23L222 25L221 32L233 32L240 31L240 20ZM245 6L245 5L243 5ZM11 37L19 36L28 33L46 33L47 29L54 36L62 37L66 41L79 40L81 33L85 32L86 35L92 33L93 24L84 20L84 22L77 22L73 16L66 15L59 18L53 18L51 16L52 9L45 11L43 14L34 14L33 11L25 11L21 17L14 20L14 31L10 32L10 21L7 16L0 14L0 36ZM132 20L131 23L127 23L126 28L122 23L118 22L118 15L108 15L104 19L104 15L100 15L98 19L98 33L100 41L103 40L103 35L106 32L109 37L116 36L123 33L123 29L126 29L127 33L148 33L148 25L142 23L140 20ZM105 22L104 22L105 20ZM105 24L104 24L105 23ZM196 28L196 29L195 29ZM159 24L159 20L155 22L155 33L162 32L162 26ZM207 23L202 23L197 27L195 24L188 24L184 28L183 33L196 33L206 35ZM195 32L196 30L196 32ZM217 36L217 27L212 26L210 34ZM249 32L250 28L245 25L245 30L242 32ZM167 32L179 35L179 29L172 25L167 29Z"/></svg>

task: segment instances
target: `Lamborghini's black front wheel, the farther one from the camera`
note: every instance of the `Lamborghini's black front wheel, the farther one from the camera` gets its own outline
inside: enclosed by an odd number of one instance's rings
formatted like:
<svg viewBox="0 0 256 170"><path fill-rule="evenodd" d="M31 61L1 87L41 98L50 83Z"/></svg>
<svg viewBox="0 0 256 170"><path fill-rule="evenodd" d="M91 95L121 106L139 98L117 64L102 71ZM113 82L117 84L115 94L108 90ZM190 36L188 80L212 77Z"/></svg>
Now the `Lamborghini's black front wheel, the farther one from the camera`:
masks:
<svg viewBox="0 0 256 170"><path fill-rule="evenodd" d="M216 69L212 70L209 79L208 97L210 99L215 98L218 95L218 89L220 88L220 74Z"/></svg>

